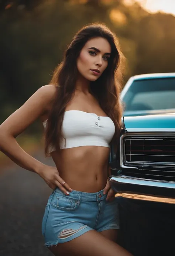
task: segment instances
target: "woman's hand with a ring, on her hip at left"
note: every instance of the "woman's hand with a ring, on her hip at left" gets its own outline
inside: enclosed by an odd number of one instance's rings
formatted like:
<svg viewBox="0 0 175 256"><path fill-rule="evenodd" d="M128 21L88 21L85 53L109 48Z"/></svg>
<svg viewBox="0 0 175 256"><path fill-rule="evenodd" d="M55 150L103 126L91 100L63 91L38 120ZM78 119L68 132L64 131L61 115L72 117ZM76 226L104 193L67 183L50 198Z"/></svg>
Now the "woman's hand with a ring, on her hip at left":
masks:
<svg viewBox="0 0 175 256"><path fill-rule="evenodd" d="M72 191L69 185L59 176L56 167L44 165L38 174L43 178L47 185L52 188L52 190L58 187L66 195L69 195L69 191Z"/></svg>

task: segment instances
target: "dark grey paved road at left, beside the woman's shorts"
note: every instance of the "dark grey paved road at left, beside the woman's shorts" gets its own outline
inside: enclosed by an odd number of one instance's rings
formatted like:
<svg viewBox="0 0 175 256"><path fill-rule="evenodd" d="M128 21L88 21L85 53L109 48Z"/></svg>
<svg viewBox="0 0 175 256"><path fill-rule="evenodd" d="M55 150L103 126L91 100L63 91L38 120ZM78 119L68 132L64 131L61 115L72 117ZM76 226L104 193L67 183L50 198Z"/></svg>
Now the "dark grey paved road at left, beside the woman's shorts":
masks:
<svg viewBox="0 0 175 256"><path fill-rule="evenodd" d="M46 162L43 154L35 156ZM49 158L47 163L54 165ZM0 175L0 256L51 256L41 222L51 189L17 165Z"/></svg>

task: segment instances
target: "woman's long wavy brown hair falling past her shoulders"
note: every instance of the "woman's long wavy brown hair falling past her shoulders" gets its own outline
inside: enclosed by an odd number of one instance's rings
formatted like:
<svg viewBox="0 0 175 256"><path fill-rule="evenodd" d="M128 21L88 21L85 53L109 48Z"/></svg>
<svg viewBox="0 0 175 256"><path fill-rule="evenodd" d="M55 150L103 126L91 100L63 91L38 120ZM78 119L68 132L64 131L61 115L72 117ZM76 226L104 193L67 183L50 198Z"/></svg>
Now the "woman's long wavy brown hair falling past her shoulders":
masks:
<svg viewBox="0 0 175 256"><path fill-rule="evenodd" d="M65 51L63 61L56 67L51 79L50 84L56 86L57 92L45 129L46 156L49 155L50 146L54 146L56 151L59 151L60 142L65 139L62 135L61 127L66 105L75 91L78 74L76 60L86 42L95 37L107 39L111 46L111 56L103 74L96 81L90 82L90 91L98 100L100 107L114 122L116 132L113 140L119 136L122 115L120 84L122 81L121 60L123 59L123 54L120 51L116 35L106 25L93 23L83 27L73 37L71 44Z"/></svg>

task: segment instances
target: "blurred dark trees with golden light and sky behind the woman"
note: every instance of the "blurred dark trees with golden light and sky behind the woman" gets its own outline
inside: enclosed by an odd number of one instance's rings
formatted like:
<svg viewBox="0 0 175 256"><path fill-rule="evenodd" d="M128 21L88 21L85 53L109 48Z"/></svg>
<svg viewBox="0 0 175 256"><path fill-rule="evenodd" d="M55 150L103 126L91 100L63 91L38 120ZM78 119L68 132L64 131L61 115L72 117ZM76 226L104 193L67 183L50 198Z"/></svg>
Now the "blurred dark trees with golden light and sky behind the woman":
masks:
<svg viewBox="0 0 175 256"><path fill-rule="evenodd" d="M66 46L85 24L104 22L126 57L124 83L136 74L173 72L174 0L1 0L0 123L49 83ZM28 151L42 146L35 122L18 136ZM0 165L8 161L0 154Z"/></svg>

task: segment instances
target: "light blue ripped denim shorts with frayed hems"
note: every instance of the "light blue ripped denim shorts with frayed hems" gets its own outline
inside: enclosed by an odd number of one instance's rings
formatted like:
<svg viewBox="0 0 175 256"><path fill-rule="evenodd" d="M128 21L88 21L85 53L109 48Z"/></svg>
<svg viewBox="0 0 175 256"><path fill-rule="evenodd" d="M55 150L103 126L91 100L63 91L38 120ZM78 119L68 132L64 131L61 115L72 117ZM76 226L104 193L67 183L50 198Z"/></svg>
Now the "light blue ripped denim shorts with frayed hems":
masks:
<svg viewBox="0 0 175 256"><path fill-rule="evenodd" d="M49 196L42 219L45 246L68 242L89 230L119 229L117 198L109 202L106 197L103 190L96 193L72 190L67 196L56 188Z"/></svg>

